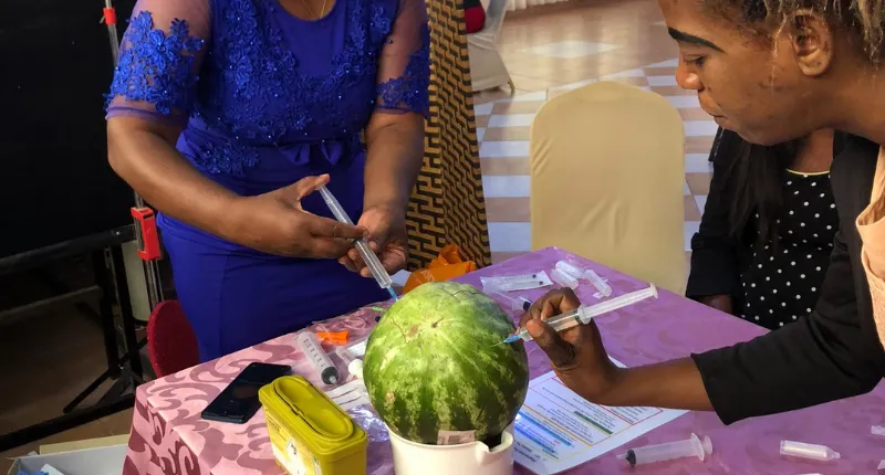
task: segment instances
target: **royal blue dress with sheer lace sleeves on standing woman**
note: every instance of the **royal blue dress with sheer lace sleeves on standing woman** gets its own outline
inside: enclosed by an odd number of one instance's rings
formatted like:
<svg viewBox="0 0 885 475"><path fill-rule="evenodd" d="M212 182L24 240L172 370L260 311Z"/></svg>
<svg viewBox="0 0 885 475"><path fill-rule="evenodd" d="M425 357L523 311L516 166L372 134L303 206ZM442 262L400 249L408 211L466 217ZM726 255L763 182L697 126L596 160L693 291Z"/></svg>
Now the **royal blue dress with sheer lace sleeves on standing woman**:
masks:
<svg viewBox="0 0 885 475"><path fill-rule="evenodd" d="M179 125L180 154L241 196L330 173L355 222L361 131L373 114L427 113L428 45L424 0L337 0L315 21L277 0L139 0L107 116ZM302 205L332 218L319 194ZM334 260L264 254L163 214L158 223L204 361L386 298Z"/></svg>

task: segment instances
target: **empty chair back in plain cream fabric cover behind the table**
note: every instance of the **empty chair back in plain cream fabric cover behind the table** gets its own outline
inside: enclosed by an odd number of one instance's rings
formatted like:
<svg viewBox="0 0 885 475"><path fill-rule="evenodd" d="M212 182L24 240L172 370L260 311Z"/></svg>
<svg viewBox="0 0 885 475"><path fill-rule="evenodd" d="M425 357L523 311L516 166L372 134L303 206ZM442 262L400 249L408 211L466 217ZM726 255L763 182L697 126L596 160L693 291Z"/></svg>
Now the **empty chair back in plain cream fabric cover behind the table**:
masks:
<svg viewBox="0 0 885 475"><path fill-rule="evenodd" d="M627 84L544 104L530 136L532 250L562 247L681 294L684 134L669 102Z"/></svg>

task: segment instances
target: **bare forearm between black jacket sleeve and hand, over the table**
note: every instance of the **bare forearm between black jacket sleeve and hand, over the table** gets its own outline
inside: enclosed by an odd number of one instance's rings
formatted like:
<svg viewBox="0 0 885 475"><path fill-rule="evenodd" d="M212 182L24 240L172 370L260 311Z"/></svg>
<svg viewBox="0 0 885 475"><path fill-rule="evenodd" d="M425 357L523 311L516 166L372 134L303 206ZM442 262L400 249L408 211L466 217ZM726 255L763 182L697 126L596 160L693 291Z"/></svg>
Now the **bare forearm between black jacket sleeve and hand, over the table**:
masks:
<svg viewBox="0 0 885 475"><path fill-rule="evenodd" d="M690 358L621 369L612 389L592 400L605 405L712 411L700 371Z"/></svg>

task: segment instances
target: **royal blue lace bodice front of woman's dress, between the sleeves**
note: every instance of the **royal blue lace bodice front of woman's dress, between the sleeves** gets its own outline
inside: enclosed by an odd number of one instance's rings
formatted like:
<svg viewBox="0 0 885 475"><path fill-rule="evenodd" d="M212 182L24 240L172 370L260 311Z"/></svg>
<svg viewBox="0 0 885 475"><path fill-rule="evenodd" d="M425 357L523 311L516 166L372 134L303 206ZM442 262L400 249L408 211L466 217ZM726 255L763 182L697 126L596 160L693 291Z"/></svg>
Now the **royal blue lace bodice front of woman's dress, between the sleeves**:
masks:
<svg viewBox="0 0 885 475"><path fill-rule="evenodd" d="M305 22L271 2L230 0L220 6L196 115L212 129L254 146L344 138L361 130L375 107L377 55L396 4L340 0L329 17ZM302 27L290 36L315 36L314 42L300 42L298 50L327 48L329 54L319 60L287 48L299 39L284 36L280 23L285 22ZM334 31L345 34L329 34Z"/></svg>

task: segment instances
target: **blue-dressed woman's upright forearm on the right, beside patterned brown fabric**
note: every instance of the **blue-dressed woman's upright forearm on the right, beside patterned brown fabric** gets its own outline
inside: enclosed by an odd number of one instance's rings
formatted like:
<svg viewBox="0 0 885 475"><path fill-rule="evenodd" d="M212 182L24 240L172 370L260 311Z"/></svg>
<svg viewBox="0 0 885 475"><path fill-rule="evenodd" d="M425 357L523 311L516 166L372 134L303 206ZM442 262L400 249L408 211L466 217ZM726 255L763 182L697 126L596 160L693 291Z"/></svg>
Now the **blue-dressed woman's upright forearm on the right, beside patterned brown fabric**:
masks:
<svg viewBox="0 0 885 475"><path fill-rule="evenodd" d="M364 208L405 210L424 161L424 120L417 114L381 116L366 128Z"/></svg>

